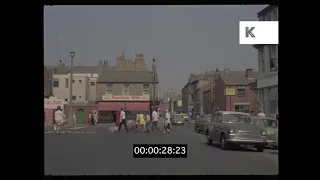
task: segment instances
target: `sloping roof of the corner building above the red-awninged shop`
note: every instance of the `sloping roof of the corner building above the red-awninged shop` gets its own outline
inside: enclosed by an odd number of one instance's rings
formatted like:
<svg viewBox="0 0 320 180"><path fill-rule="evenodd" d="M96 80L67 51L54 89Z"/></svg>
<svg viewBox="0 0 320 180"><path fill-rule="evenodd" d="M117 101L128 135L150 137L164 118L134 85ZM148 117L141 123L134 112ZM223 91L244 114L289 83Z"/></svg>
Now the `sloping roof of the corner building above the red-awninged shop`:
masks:
<svg viewBox="0 0 320 180"><path fill-rule="evenodd" d="M152 71L105 71L98 83L153 83ZM156 83L159 83L156 75Z"/></svg>

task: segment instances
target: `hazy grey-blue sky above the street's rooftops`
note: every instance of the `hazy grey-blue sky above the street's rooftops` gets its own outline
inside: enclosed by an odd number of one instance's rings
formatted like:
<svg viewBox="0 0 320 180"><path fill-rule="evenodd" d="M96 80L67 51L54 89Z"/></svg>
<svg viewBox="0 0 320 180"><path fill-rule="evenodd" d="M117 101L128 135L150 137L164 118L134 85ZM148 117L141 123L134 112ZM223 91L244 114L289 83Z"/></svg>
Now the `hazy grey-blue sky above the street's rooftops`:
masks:
<svg viewBox="0 0 320 180"><path fill-rule="evenodd" d="M75 65L115 65L144 54L151 69L156 58L160 95L168 88L181 93L190 73L216 68L257 70L257 51L239 45L239 21L257 20L266 5L256 6L46 6L45 64L58 60Z"/></svg>

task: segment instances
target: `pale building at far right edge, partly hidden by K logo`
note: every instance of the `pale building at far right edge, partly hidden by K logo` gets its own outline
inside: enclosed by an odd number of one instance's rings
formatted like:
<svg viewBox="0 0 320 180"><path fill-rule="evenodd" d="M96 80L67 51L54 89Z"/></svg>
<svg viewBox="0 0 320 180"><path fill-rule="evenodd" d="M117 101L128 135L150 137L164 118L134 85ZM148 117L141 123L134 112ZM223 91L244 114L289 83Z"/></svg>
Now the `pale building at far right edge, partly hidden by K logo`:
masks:
<svg viewBox="0 0 320 180"><path fill-rule="evenodd" d="M278 7L268 6L258 13L260 21L278 21ZM267 115L278 111L278 45L254 45L258 50L259 72L255 87L260 109Z"/></svg>

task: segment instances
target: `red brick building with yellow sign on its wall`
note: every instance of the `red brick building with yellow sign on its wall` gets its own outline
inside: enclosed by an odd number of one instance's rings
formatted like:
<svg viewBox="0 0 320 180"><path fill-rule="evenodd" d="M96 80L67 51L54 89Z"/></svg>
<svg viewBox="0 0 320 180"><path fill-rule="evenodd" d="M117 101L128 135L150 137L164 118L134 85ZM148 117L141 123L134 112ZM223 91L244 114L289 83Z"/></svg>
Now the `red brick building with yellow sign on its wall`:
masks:
<svg viewBox="0 0 320 180"><path fill-rule="evenodd" d="M254 110L254 91L249 84L259 76L253 69L246 71L224 71L216 72L215 100L216 105L223 111L251 112ZM232 96L226 96L226 89L235 92Z"/></svg>

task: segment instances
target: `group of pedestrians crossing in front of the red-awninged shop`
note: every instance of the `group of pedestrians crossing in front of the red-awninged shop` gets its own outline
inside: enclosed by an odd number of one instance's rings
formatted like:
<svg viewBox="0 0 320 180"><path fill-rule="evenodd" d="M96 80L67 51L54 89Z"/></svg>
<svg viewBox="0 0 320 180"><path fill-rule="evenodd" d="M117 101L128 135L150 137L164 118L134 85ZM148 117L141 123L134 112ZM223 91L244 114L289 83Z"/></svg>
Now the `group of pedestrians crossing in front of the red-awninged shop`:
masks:
<svg viewBox="0 0 320 180"><path fill-rule="evenodd" d="M140 129L142 132L152 133L156 129L157 131L161 132L161 130L158 127L158 122L159 122L159 113L155 109L152 111L151 117L148 113L147 114L137 113L135 123L131 124L131 130L136 132ZM123 110L123 108L121 108L121 112L120 112L120 124L119 124L118 131L121 131L122 125L124 126L126 132L129 132L126 113ZM170 133L170 131L171 131L170 114L168 110L166 110L164 133Z"/></svg>

